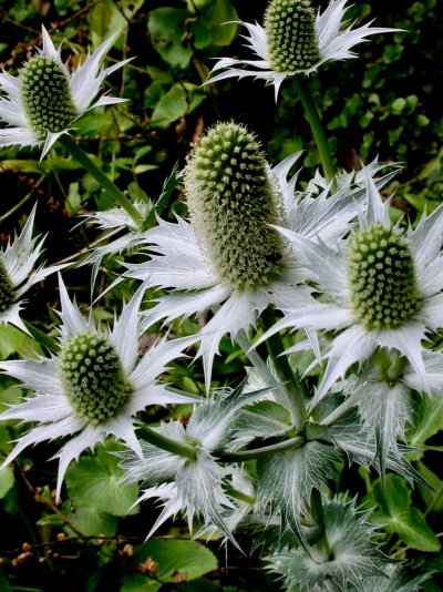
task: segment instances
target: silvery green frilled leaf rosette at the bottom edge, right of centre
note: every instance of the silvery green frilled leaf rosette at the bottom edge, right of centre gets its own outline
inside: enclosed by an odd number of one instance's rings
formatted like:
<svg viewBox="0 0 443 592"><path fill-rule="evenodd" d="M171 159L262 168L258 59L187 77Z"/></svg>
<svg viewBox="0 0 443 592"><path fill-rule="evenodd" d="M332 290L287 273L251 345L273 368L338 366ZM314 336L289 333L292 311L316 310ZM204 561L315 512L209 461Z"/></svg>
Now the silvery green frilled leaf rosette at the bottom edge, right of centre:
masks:
<svg viewBox="0 0 443 592"><path fill-rule="evenodd" d="M285 549L270 555L270 571L280 575L285 590L363 590L365 580L382 574L385 563L372 542L377 531L368 516L357 510L356 500L337 496L324 501L320 539L307 550Z"/></svg>

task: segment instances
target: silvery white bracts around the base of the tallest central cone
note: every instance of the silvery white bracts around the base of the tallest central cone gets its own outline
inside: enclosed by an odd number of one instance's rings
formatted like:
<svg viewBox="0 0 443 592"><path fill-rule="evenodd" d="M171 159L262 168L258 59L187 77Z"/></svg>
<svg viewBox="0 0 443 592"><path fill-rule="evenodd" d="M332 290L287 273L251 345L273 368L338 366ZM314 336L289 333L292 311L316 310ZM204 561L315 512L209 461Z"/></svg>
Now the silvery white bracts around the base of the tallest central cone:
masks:
<svg viewBox="0 0 443 592"><path fill-rule="evenodd" d="M281 206L288 228L312 239L331 243L348 229L356 216L356 204L348 197L347 187L332 196L324 190L317 198L295 198L297 175L289 182L287 175L300 153L292 154L274 169L269 180L281 196ZM153 252L150 261L127 264L128 277L146 282L150 287L173 288L158 298L158 304L146 315L145 326L161 319L171 321L195 313L212 309L214 316L195 337L200 340L199 355L205 366L206 387L209 388L214 356L225 334L233 339L256 324L258 315L268 306L288 308L312 303L311 289L303 283L309 277L303 258L295 249L284 254L284 273L275 280L254 290L236 290L219 277L202 248L193 223L177 217L177 223L158 220L158 226L141 236L141 245Z"/></svg>

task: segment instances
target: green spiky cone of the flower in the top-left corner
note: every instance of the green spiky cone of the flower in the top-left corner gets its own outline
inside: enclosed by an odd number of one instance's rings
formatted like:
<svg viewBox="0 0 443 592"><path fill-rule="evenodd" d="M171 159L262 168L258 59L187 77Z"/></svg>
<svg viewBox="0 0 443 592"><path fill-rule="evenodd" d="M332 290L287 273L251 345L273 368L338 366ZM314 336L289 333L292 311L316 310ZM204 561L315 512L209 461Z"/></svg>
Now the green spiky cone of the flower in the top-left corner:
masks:
<svg viewBox="0 0 443 592"><path fill-rule="evenodd" d="M34 55L20 71L20 98L38 134L59 133L76 116L63 67L48 55Z"/></svg>

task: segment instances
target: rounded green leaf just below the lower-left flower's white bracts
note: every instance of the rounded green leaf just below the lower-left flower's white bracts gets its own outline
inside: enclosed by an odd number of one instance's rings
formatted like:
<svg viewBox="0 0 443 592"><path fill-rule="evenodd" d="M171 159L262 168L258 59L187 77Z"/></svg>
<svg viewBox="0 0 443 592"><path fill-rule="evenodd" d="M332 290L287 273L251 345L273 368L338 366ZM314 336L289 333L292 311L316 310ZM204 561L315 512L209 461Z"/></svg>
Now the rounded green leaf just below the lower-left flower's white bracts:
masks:
<svg viewBox="0 0 443 592"><path fill-rule="evenodd" d="M65 477L68 492L75 507L85 506L99 512L112 516L135 514L138 507L131 507L137 501L138 488L136 483L122 486L123 470L119 467L119 459L110 451L116 447L99 448L94 457L81 457L78 463L72 463Z"/></svg>

